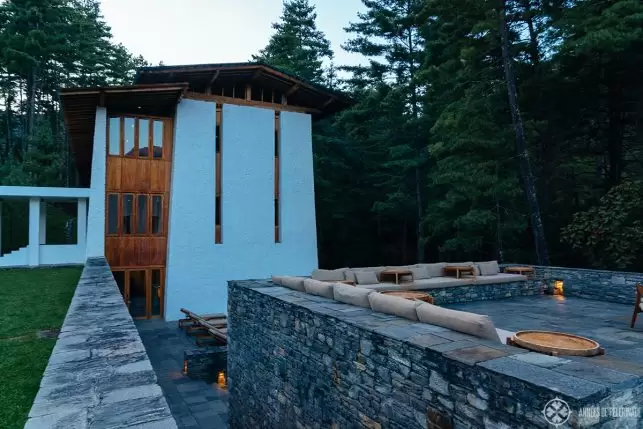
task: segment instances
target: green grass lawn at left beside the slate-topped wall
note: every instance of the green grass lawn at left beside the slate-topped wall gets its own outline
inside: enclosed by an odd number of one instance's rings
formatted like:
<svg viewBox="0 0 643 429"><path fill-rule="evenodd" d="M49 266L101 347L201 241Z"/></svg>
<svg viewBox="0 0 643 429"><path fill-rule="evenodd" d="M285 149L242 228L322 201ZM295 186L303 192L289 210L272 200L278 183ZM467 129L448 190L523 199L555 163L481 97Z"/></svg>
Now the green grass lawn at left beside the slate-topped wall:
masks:
<svg viewBox="0 0 643 429"><path fill-rule="evenodd" d="M37 333L62 326L81 271L0 270L0 428L24 426L56 344Z"/></svg>

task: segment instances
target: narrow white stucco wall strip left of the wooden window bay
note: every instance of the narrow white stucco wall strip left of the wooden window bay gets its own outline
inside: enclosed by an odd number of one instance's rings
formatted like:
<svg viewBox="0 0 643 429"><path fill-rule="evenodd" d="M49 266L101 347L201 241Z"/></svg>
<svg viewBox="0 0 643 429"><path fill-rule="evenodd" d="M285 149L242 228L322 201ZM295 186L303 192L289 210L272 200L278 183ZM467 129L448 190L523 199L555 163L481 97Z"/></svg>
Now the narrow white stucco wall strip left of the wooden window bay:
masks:
<svg viewBox="0 0 643 429"><path fill-rule="evenodd" d="M89 212L87 215L88 258L105 256L105 169L107 168L107 111L96 108L94 147L92 151L92 177Z"/></svg>

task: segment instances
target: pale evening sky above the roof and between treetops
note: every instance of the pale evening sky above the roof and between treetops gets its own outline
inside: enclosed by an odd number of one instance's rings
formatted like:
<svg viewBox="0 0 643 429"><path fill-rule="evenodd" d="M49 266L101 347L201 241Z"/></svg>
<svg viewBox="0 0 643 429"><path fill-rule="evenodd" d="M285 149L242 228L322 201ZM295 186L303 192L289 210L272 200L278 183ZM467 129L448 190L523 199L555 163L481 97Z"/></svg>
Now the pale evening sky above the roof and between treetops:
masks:
<svg viewBox="0 0 643 429"><path fill-rule="evenodd" d="M331 42L336 65L363 62L345 52L344 27L363 11L361 0L310 0L317 28ZM250 61L266 46L282 0L101 0L116 42L152 65Z"/></svg>

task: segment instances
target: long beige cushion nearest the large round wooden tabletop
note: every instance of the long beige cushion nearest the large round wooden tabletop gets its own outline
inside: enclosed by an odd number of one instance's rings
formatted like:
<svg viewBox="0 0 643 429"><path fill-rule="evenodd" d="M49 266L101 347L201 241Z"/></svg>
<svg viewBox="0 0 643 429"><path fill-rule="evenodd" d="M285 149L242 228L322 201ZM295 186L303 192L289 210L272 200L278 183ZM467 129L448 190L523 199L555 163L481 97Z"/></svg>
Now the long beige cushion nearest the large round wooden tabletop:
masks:
<svg viewBox="0 0 643 429"><path fill-rule="evenodd" d="M501 342L491 319L481 314L450 310L437 305L423 303L417 308L417 315L420 322Z"/></svg>

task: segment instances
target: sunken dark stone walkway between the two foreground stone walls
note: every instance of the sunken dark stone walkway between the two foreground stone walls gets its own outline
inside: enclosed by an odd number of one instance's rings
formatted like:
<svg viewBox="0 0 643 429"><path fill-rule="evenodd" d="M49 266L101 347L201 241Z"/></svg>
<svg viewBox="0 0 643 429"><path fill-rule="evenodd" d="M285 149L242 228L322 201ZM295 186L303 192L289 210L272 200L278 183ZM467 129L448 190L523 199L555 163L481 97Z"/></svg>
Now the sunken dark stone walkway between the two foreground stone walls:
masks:
<svg viewBox="0 0 643 429"><path fill-rule="evenodd" d="M179 429L224 429L228 392L183 375L183 352L198 348L177 322L136 321L145 350L156 372Z"/></svg>

